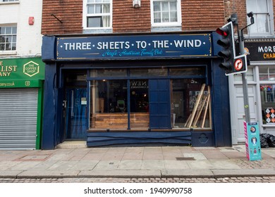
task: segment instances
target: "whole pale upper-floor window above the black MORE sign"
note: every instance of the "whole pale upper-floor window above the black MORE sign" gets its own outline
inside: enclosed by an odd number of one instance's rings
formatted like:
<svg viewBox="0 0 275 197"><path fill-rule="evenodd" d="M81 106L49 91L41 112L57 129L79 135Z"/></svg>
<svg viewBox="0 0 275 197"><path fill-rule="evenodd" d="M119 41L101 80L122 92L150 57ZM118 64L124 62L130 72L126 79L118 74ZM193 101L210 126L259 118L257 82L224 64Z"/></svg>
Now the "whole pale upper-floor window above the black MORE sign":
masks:
<svg viewBox="0 0 275 197"><path fill-rule="evenodd" d="M248 33L253 35L273 34L273 8L271 0L247 0L247 13L254 13L255 23L248 27ZM247 18L250 24L250 18Z"/></svg>

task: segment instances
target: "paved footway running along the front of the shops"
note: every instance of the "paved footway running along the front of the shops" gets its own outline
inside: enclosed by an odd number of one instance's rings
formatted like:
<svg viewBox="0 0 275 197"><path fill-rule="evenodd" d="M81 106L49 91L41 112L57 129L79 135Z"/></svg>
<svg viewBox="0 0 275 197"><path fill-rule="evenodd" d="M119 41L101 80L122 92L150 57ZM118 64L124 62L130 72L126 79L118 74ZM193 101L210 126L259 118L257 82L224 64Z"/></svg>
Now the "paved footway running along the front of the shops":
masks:
<svg viewBox="0 0 275 197"><path fill-rule="evenodd" d="M62 146L61 146L62 147ZM232 147L145 146L0 151L0 178L275 177L275 148L262 160L246 158L245 145Z"/></svg>

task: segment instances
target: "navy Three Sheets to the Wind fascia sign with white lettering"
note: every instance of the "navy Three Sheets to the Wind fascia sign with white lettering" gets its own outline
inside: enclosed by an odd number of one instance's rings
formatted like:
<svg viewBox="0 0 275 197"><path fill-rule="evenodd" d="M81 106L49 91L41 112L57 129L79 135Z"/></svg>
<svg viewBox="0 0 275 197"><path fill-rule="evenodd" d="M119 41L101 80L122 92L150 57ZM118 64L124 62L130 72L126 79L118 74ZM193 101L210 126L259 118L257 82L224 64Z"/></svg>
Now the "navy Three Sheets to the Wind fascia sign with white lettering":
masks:
<svg viewBox="0 0 275 197"><path fill-rule="evenodd" d="M212 56L211 34L58 37L57 60Z"/></svg>

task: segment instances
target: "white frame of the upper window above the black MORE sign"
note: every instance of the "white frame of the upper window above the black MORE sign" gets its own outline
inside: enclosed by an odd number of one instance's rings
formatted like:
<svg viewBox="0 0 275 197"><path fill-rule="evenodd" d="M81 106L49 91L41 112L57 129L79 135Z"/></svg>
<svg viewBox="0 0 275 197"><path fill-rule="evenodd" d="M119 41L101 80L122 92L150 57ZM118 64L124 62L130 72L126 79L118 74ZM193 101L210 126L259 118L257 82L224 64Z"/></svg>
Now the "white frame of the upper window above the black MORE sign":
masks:
<svg viewBox="0 0 275 197"><path fill-rule="evenodd" d="M251 4L251 1L250 0L247 0L246 1L246 4ZM250 13L251 11L250 10L247 10L247 13ZM272 2L271 0L267 0L267 13L265 12L255 12L255 11L252 11L254 13L253 17L254 17L254 20L255 20L255 24L253 25L257 25L257 14L265 14L267 15L268 17L268 21L267 21L267 25L268 25L268 28L269 28L269 32L251 32L251 27L248 27L248 35L250 37L264 37L264 36L271 36L271 35L274 35L274 13L273 13L273 6L272 6ZM250 25L250 18L247 17L247 25Z"/></svg>

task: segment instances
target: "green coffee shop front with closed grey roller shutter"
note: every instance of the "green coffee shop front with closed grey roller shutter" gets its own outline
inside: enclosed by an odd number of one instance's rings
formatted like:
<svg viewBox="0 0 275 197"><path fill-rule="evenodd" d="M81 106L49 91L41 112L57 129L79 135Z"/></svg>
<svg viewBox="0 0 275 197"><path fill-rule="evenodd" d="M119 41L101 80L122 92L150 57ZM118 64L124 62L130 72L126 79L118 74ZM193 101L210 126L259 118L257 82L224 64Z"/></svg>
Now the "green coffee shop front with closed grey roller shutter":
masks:
<svg viewBox="0 0 275 197"><path fill-rule="evenodd" d="M44 63L0 58L0 149L41 148Z"/></svg>

